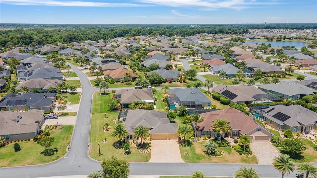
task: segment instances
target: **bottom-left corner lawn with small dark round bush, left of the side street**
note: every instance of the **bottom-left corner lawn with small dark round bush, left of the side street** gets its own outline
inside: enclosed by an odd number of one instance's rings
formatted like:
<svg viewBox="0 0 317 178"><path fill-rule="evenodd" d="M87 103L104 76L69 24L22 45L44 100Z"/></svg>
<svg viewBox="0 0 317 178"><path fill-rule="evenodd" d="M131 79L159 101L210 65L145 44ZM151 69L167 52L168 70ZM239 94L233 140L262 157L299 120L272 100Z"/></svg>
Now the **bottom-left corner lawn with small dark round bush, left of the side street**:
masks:
<svg viewBox="0 0 317 178"><path fill-rule="evenodd" d="M20 144L21 150L15 152L13 149L14 142L12 142L0 148L0 167L43 164L61 158L66 154L73 127L72 125L64 125L63 129L50 130L51 136L55 137L55 141L50 148L58 149L58 157L56 157L56 154L43 156L40 152L44 151L44 148L33 141L16 142Z"/></svg>

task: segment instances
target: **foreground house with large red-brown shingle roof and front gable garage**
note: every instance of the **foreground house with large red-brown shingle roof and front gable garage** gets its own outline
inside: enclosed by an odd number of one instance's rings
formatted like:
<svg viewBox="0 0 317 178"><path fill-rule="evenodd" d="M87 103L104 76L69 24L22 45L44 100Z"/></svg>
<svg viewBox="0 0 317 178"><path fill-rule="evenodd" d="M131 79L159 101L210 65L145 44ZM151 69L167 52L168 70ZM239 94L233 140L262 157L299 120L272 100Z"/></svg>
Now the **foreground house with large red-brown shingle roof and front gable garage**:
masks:
<svg viewBox="0 0 317 178"><path fill-rule="evenodd" d="M257 123L255 119L234 108L205 112L199 114L199 116L204 117L203 122L198 123L196 127L194 123L191 123L198 137L207 135L211 137L239 137L240 135L247 135L255 142L269 142L273 135L262 124ZM213 121L220 118L230 121L229 125L232 128L230 132L223 135L212 130Z"/></svg>

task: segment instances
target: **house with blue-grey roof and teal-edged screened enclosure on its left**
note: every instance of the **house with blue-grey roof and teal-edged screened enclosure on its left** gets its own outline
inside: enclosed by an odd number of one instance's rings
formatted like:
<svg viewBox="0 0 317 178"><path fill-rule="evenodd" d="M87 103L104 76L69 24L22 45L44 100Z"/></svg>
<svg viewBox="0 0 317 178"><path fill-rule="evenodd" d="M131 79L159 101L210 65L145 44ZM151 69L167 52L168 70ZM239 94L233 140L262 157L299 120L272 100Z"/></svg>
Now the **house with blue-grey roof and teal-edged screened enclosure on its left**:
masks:
<svg viewBox="0 0 317 178"><path fill-rule="evenodd" d="M168 91L169 97L167 98L167 104L170 110L180 105L184 105L187 108L201 109L211 106L211 101L206 95L197 88L172 88Z"/></svg>

